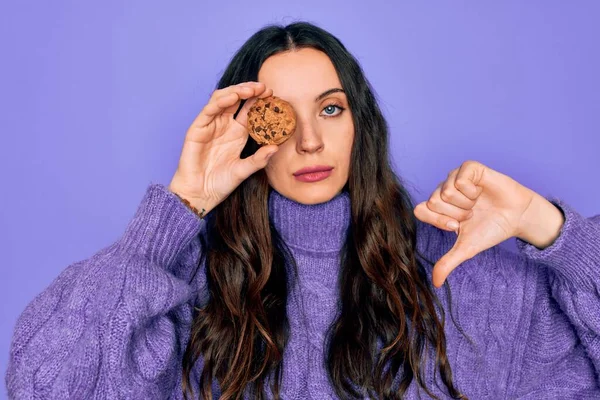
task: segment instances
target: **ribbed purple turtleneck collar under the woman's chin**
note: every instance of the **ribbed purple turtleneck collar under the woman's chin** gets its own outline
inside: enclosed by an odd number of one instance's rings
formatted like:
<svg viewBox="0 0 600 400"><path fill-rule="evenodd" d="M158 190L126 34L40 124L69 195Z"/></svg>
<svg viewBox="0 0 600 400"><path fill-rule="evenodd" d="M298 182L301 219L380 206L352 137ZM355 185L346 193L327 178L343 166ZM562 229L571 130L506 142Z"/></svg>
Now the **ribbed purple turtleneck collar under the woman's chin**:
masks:
<svg viewBox="0 0 600 400"><path fill-rule="evenodd" d="M350 225L350 195L342 191L325 203L307 205L272 189L269 215L288 246L309 252L338 252Z"/></svg>

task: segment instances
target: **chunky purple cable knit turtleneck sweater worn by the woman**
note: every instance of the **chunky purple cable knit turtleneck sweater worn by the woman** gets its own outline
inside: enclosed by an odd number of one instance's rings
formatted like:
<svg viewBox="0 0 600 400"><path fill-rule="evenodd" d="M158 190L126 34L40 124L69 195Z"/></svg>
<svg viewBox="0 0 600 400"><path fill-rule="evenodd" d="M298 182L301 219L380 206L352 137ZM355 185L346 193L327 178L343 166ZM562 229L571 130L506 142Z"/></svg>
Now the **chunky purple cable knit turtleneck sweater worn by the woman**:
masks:
<svg viewBox="0 0 600 400"><path fill-rule="evenodd" d="M434 289L448 317L454 382L470 399L600 399L600 215L584 218L549 200L566 218L550 247L517 240L514 254L495 246L448 278L453 314L476 348L451 322L445 291ZM342 193L303 205L274 191L269 210L300 274L288 302L282 397L335 399L322 354L337 312L338 254L350 199ZM182 398L192 305L207 299L204 270L187 283L205 224L165 186L150 184L124 235L68 266L19 317L6 375L9 397ZM419 250L434 260L456 238L420 221L418 232ZM439 372L437 386L433 381L433 360L428 357L426 382L449 398ZM194 380L201 366L202 359ZM422 390L421 396L428 398ZM417 398L414 381L406 398Z"/></svg>

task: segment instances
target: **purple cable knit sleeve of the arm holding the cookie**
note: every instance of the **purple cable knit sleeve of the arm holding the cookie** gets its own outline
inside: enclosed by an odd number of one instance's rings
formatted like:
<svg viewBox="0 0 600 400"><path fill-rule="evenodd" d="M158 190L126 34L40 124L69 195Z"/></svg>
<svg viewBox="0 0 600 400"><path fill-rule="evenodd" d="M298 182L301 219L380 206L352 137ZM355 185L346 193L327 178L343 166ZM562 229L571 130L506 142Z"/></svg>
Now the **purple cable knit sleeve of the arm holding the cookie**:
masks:
<svg viewBox="0 0 600 400"><path fill-rule="evenodd" d="M14 399L167 398L181 380L194 301L206 298L198 218L150 184L124 235L69 265L19 316Z"/></svg>

